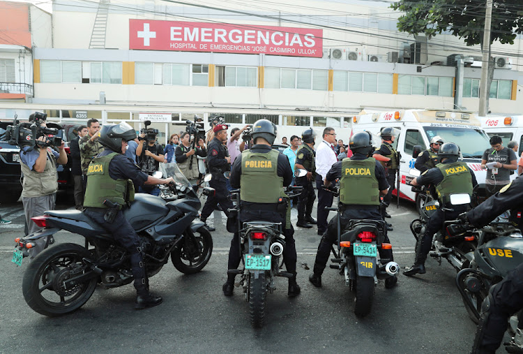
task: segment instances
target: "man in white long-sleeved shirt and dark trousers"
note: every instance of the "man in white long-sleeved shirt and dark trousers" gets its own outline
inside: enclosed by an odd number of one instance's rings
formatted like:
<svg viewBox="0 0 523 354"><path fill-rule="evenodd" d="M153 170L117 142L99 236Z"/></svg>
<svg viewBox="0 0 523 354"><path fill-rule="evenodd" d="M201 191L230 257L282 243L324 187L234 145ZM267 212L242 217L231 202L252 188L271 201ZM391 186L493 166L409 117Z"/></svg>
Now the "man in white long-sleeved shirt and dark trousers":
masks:
<svg viewBox="0 0 523 354"><path fill-rule="evenodd" d="M326 127L324 129L323 141L316 148L316 188L318 190L318 214L317 225L318 235L323 235L327 230L328 210L325 207L333 205L333 194L321 189L328 170L338 162L334 152L334 143L336 142L336 133L334 128Z"/></svg>

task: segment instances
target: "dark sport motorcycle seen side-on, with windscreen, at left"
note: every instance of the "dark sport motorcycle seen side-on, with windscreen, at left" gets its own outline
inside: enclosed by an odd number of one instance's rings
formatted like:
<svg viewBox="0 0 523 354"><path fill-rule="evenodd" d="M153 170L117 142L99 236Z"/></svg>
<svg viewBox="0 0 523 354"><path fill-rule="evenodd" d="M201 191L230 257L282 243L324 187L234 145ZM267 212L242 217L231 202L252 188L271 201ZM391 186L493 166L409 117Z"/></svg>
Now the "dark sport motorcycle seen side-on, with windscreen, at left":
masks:
<svg viewBox="0 0 523 354"><path fill-rule="evenodd" d="M123 215L142 239L146 272L153 276L167 263L184 274L202 270L211 258L213 239L199 221L201 202L188 180L174 163L166 164L164 176L173 177L169 185L176 200L137 193ZM205 195L214 193L206 188ZM38 254L27 268L22 281L26 303L39 314L68 314L89 300L97 283L116 288L131 283L130 254L98 223L78 210L50 210L32 218L42 227L27 237L17 238L13 262L22 264L24 256L41 237L52 237L60 230L82 235L85 246L57 244ZM90 246L89 246L90 245Z"/></svg>

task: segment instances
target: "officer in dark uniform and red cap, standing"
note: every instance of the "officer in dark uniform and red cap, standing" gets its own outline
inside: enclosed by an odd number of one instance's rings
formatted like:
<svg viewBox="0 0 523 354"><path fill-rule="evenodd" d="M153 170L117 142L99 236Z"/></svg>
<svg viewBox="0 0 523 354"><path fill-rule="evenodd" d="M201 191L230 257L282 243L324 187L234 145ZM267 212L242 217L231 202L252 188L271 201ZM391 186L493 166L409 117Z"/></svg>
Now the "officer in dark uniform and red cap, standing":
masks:
<svg viewBox="0 0 523 354"><path fill-rule="evenodd" d="M223 172L229 171L231 168L231 158L229 157L229 151L227 147L223 145L227 141L227 128L225 124L217 124L214 126L214 138L209 142L207 147L207 165L213 175L209 186L215 189L215 196L207 197L205 205L202 209L202 216L200 219L205 223L205 226L209 231L215 231L216 229L208 226L206 223L207 218L216 205L220 203L223 212L229 216L229 208L232 208L232 202L229 200L227 191L227 178L223 175Z"/></svg>

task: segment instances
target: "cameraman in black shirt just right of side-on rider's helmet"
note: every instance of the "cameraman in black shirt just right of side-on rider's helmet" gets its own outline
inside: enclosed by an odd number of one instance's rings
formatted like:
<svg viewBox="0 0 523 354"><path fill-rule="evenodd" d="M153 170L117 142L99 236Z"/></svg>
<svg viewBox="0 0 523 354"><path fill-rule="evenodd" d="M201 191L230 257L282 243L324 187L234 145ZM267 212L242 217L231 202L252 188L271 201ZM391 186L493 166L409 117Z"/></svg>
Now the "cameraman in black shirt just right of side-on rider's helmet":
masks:
<svg viewBox="0 0 523 354"><path fill-rule="evenodd" d="M156 142L155 133L140 133L138 140L141 143L136 148L136 156L139 161L139 167L142 172L152 176L160 168L160 162L165 161L163 157L163 148ZM160 196L160 189L156 185L140 186L139 193L149 193L153 196Z"/></svg>

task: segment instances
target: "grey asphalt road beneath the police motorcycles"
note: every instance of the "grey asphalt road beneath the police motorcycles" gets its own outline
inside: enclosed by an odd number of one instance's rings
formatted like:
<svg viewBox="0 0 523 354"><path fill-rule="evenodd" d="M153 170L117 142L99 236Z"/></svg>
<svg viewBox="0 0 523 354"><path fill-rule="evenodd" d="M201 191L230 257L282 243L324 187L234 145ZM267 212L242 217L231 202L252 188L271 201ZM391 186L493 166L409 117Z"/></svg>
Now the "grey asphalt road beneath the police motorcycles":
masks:
<svg viewBox="0 0 523 354"><path fill-rule="evenodd" d="M67 207L61 203L57 209ZM402 202L389 213L395 260L401 267L411 265L414 205ZM27 258L22 267L10 262L13 239L24 232L22 203L0 205L0 214L13 220L0 226L1 353L468 353L476 330L446 260L441 266L428 260L423 276L400 275L393 289L379 281L371 314L357 318L354 295L338 272L325 270L323 288L307 280L320 238L315 228L297 228L294 235L301 295L289 299L287 280L278 279L278 289L268 295L266 325L254 330L241 288L234 297L222 295L232 235L221 212L208 220L217 231L213 256L202 272L183 275L169 262L151 278L151 290L164 298L160 306L135 311L132 285L98 288L79 311L47 318L24 302L21 281ZM295 223L296 209L292 219ZM67 232L55 239L83 244L82 237Z"/></svg>

